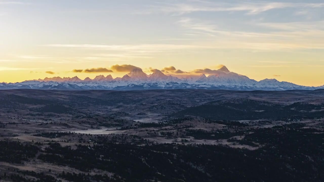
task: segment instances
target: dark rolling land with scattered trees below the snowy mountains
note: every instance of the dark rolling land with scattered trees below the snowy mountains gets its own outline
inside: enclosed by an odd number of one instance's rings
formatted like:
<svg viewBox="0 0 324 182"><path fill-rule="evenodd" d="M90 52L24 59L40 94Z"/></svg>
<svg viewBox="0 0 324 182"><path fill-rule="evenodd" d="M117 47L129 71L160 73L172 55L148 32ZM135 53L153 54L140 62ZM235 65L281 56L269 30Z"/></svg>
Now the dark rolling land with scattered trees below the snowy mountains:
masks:
<svg viewBox="0 0 324 182"><path fill-rule="evenodd" d="M0 181L323 181L324 90L1 90L0 147Z"/></svg>

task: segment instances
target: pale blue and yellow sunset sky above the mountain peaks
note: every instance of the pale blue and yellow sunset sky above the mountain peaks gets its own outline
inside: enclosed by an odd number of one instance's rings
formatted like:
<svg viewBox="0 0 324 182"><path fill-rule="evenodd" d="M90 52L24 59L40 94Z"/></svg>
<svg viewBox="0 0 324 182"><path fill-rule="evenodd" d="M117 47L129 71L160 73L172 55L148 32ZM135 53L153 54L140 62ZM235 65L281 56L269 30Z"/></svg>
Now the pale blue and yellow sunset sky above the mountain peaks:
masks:
<svg viewBox="0 0 324 182"><path fill-rule="evenodd" d="M7 83L226 65L324 85L324 0L0 0L0 40Z"/></svg>

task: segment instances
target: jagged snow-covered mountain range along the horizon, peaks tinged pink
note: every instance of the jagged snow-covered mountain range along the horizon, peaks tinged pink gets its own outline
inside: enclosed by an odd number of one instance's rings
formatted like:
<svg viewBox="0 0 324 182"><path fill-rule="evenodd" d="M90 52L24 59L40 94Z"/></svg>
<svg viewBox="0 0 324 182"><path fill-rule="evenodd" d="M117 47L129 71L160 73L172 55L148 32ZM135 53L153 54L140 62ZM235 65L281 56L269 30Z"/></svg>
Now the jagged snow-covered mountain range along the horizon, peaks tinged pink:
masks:
<svg viewBox="0 0 324 182"><path fill-rule="evenodd" d="M316 90L323 86L302 86L276 79L256 81L247 76L230 72L226 66L213 70L206 76L178 78L165 75L159 70L147 75L140 68L133 69L123 77L98 75L84 80L75 77L53 77L26 80L20 83L0 83L0 89L42 89L42 90L144 90L144 89L227 89L227 90Z"/></svg>

